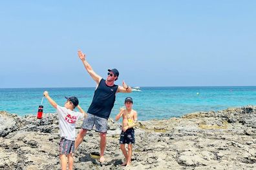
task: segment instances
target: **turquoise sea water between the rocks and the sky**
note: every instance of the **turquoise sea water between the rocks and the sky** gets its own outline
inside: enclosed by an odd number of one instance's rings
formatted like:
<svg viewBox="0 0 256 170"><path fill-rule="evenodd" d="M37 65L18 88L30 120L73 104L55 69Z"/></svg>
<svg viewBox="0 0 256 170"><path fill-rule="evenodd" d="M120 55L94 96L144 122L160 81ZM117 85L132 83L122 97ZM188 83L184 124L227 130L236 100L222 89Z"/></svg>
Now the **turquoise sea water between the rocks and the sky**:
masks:
<svg viewBox="0 0 256 170"><path fill-rule="evenodd" d="M64 96L75 95L80 106L87 111L95 88L19 88L0 89L0 110L17 115L37 114L43 91L47 90L60 106ZM229 107L256 105L256 86L239 87L142 87L133 93L118 93L111 117L123 106L125 97L133 97L133 108L140 120L180 117L195 111L217 111ZM198 94L197 94L198 93ZM43 112L54 113L47 100Z"/></svg>

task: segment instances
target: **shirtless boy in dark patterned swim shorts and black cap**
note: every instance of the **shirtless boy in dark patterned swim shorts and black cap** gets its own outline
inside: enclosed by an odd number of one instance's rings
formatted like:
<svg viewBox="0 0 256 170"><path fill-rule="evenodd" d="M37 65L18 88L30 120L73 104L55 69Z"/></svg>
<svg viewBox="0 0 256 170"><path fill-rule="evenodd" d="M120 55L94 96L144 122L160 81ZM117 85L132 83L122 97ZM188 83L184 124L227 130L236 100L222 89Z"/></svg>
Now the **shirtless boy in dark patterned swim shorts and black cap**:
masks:
<svg viewBox="0 0 256 170"><path fill-rule="evenodd" d="M137 124L137 112L133 109L133 99L131 97L125 98L125 109L120 108L120 113L116 115L116 121L123 116L122 132L120 135L120 149L125 156L125 162L122 166L131 164L131 155L133 151L133 144L135 143L134 129ZM125 149L125 144L128 144L128 153Z"/></svg>

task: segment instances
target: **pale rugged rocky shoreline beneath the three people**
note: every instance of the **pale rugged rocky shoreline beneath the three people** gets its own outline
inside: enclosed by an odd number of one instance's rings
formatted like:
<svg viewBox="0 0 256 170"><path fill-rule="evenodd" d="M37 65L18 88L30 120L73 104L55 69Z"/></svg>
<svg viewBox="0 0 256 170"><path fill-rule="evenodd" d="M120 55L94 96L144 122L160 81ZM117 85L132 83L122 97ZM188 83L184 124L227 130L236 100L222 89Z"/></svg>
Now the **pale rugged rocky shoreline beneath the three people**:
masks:
<svg viewBox="0 0 256 170"><path fill-rule="evenodd" d="M110 119L100 164L91 158L100 137L87 133L74 169L123 169L119 135L120 124ZM124 169L256 169L256 106L141 121L135 138L133 163ZM37 120L0 111L0 169L60 169L58 142L56 114Z"/></svg>

